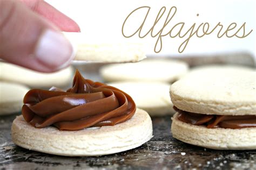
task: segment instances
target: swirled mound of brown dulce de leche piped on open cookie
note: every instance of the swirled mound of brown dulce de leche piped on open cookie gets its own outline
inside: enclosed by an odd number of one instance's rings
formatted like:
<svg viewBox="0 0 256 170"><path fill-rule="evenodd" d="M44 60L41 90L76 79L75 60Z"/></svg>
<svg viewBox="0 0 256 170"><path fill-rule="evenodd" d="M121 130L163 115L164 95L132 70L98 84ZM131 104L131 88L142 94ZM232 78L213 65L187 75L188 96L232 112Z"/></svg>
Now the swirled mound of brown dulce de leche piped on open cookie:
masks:
<svg viewBox="0 0 256 170"><path fill-rule="evenodd" d="M129 95L104 83L86 80L78 70L70 89L32 89L23 102L26 122L36 128L53 125L59 130L115 125L127 121L136 111Z"/></svg>

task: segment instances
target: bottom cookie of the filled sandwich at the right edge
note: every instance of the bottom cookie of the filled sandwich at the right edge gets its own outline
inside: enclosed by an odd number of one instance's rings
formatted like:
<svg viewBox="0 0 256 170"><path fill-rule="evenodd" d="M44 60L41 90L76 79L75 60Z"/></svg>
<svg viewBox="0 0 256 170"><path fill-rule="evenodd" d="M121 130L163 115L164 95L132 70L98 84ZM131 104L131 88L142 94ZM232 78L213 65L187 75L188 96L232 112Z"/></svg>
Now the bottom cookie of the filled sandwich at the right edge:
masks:
<svg viewBox="0 0 256 170"><path fill-rule="evenodd" d="M185 143L215 150L255 150L256 128L207 129L179 121L178 113L172 118L172 136Z"/></svg>

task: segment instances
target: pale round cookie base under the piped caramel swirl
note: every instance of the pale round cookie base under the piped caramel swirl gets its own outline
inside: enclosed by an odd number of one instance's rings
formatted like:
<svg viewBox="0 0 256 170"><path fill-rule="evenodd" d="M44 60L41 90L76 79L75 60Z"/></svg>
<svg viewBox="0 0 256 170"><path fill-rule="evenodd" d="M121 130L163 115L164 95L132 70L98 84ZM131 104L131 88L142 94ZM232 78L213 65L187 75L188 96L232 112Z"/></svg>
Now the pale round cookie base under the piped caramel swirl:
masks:
<svg viewBox="0 0 256 170"><path fill-rule="evenodd" d="M65 156L98 156L138 147L152 138L152 121L137 109L126 122L114 126L60 131L53 126L37 129L18 116L12 123L12 141L29 150Z"/></svg>

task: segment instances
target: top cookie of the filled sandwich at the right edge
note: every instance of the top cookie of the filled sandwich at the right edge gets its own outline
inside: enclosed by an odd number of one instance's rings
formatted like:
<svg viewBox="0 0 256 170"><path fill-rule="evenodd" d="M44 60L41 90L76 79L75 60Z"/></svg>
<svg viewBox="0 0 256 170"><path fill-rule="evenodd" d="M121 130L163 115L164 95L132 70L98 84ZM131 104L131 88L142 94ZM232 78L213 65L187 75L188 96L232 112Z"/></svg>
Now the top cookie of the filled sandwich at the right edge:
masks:
<svg viewBox="0 0 256 170"><path fill-rule="evenodd" d="M208 66L193 70L170 87L180 110L209 115L256 115L255 69Z"/></svg>

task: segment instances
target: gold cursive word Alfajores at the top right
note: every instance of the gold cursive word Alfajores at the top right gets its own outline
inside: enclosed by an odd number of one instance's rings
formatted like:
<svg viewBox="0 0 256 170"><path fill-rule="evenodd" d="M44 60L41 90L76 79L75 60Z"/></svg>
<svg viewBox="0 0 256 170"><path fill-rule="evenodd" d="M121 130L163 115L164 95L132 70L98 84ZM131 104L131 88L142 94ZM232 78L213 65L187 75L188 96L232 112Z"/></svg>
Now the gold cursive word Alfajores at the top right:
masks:
<svg viewBox="0 0 256 170"><path fill-rule="evenodd" d="M133 13L136 13L136 12L139 12L140 10L143 10L143 9L146 9L146 13L145 13L145 16L144 16L144 19L143 19L143 22L139 25L138 29L136 31L134 31L132 34L130 35L127 35L125 33L125 25L127 23L127 20L132 16ZM228 34L228 32L234 30L237 28L237 23L231 23L230 25L228 25L226 27L226 29L224 29L224 25L221 24L220 22L218 24L216 24L212 29L210 29L210 24L209 23L200 23L198 26L196 23L192 24L190 26L190 28L186 31L185 30L185 33L184 34L181 34L181 32L184 32L184 25L185 23L184 22L180 22L180 23L177 23L175 24L174 26L172 27L169 27L170 26L170 22L172 20L172 18L176 15L176 12L177 12L177 8L176 6L172 6L169 10L169 12L167 13L167 16L165 18L165 22L163 25L160 25L160 29L156 29L156 27L158 26L159 27L159 20L161 18L163 18L165 12L166 12L166 7L163 6L160 8L158 14L157 14L157 17L156 19L154 20L152 26L150 26L149 28L146 28L144 27L144 24L147 20L147 17L149 15L149 12L151 10L151 7L150 6L140 6L139 8L133 10L124 20L124 23L123 23L123 26L122 26L122 34L125 38L130 38L130 37L133 37L135 34L138 33L138 37L139 38L144 38L146 37L149 33L150 33L150 36L152 38L155 38L157 37L157 40L156 40L156 44L154 45L154 52L156 53L159 53L163 47L163 40L162 38L169 35L170 38L176 38L176 37L179 37L179 38L185 38L185 40L180 44L179 48L178 48L178 52L179 53L182 53L184 52L185 48L187 47L188 45L188 42L190 41L190 39L196 35L196 37L198 38L202 38L206 35L209 35L211 33L213 33L215 30L219 30L218 33L217 33L217 38L222 38L222 37L227 37L227 38L232 38L232 37L237 37L237 38L245 38L247 37L249 34L251 34L251 32L253 30L250 30L250 32L246 33L246 30L245 30L245 24L242 24L239 29L233 33L233 34ZM197 16L199 16L199 14L197 14ZM178 32L174 32L174 29L179 29ZM164 30L168 29L169 31L167 33L163 33ZM146 33L143 35L142 34L142 30L146 30ZM199 34L199 31L201 30L201 34ZM156 33L154 33L156 32ZM166 31L165 31L166 32ZM242 33L241 36L239 36L239 32Z"/></svg>

